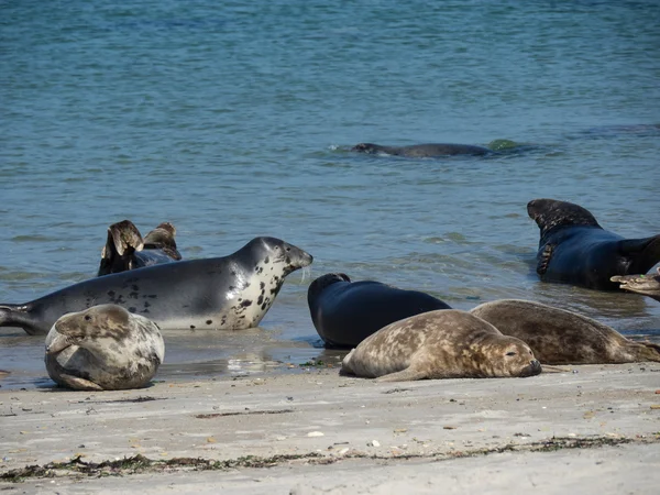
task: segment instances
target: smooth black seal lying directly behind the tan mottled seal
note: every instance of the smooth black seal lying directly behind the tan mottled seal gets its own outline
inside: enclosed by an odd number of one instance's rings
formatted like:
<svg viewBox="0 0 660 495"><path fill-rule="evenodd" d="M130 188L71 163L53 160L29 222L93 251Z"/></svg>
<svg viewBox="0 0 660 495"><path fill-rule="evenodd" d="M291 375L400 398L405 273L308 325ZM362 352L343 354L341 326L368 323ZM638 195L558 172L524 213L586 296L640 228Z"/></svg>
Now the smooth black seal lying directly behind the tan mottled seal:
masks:
<svg viewBox="0 0 660 495"><path fill-rule="evenodd" d="M329 273L309 285L307 302L314 327L327 348L354 348L372 333L420 312L451 309L433 296L374 280L351 282Z"/></svg>

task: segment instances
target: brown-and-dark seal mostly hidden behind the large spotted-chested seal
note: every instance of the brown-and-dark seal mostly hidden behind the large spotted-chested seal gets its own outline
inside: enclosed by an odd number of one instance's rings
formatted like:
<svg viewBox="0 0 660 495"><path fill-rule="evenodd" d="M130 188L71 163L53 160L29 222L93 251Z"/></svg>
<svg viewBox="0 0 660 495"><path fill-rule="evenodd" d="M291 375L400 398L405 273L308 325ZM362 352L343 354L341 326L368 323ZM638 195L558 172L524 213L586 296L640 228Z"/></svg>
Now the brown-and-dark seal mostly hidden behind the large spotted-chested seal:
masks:
<svg viewBox="0 0 660 495"><path fill-rule="evenodd" d="M144 239L130 220L112 223L108 228L97 276L179 261L182 255L175 235L176 229L169 222L161 223Z"/></svg>

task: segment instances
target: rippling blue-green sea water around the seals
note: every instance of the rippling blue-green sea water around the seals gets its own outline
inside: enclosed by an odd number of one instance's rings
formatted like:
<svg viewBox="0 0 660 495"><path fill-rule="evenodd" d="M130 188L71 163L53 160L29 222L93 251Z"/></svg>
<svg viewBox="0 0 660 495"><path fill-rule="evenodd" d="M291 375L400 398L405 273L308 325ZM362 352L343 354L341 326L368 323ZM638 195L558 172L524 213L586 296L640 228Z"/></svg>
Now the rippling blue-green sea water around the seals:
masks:
<svg viewBox="0 0 660 495"><path fill-rule="evenodd" d="M660 232L654 1L3 1L0 23L0 301L94 275L114 221L168 220L188 258L274 235L315 263L260 329L170 334L163 380L334 359L306 302L333 271L660 340L651 299L539 283L525 208L564 199L622 235ZM348 151L495 140L519 146ZM0 330L3 387L50 383L42 360L41 339Z"/></svg>

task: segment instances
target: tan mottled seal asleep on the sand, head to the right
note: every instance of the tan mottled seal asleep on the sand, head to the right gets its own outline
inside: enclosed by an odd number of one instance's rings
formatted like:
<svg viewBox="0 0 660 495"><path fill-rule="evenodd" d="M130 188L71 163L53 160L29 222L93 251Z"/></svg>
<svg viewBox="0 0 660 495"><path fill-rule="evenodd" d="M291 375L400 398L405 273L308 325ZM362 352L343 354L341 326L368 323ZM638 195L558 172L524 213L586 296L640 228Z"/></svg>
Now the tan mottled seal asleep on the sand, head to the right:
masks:
<svg viewBox="0 0 660 495"><path fill-rule="evenodd" d="M529 345L457 309L396 321L360 343L342 362L343 374L378 382L487 378L541 373Z"/></svg>

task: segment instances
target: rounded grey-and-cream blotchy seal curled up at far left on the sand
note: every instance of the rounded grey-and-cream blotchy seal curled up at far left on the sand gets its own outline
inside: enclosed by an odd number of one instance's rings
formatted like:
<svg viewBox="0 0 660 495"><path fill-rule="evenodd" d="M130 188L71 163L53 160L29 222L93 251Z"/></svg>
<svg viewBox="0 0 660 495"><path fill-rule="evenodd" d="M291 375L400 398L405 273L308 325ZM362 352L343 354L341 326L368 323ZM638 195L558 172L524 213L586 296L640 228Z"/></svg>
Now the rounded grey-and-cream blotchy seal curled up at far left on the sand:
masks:
<svg viewBox="0 0 660 495"><path fill-rule="evenodd" d="M48 375L80 391L143 387L164 358L158 326L117 305L64 315L46 337Z"/></svg>

